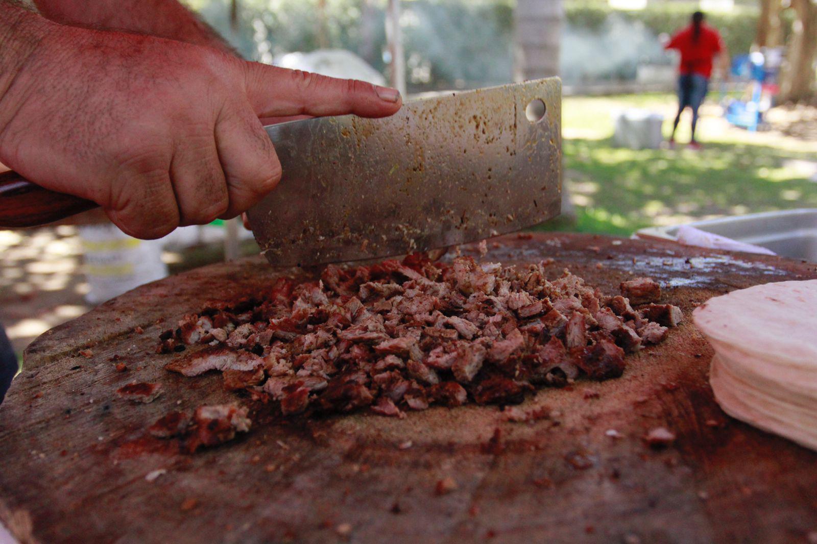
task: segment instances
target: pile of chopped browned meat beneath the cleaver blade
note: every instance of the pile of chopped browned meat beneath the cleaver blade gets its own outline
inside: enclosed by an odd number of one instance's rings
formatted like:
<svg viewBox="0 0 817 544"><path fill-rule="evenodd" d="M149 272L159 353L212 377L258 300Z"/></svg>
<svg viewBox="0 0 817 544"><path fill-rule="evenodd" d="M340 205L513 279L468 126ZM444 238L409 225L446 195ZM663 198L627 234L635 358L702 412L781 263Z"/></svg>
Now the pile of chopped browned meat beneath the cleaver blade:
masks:
<svg viewBox="0 0 817 544"><path fill-rule="evenodd" d="M287 416L371 407L404 417L469 399L518 403L531 384L619 376L625 353L663 341L681 322L675 306L646 304L660 296L650 279L606 297L567 270L547 279L551 262L517 268L417 254L329 265L319 281L278 279L258 298L185 314L159 335L157 352L176 354L167 370L222 372L226 390L246 390ZM158 432L182 433L191 448L214 440L198 428Z"/></svg>

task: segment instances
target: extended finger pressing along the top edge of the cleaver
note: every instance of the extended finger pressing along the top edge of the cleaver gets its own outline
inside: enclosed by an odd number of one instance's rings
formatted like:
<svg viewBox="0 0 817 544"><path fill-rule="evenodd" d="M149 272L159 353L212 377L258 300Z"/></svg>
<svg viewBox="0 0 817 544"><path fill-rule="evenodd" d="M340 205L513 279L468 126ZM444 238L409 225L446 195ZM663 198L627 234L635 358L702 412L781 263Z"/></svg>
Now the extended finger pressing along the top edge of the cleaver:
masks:
<svg viewBox="0 0 817 544"><path fill-rule="evenodd" d="M258 117L394 114L400 92L356 79L329 78L301 70L245 63L245 88Z"/></svg>

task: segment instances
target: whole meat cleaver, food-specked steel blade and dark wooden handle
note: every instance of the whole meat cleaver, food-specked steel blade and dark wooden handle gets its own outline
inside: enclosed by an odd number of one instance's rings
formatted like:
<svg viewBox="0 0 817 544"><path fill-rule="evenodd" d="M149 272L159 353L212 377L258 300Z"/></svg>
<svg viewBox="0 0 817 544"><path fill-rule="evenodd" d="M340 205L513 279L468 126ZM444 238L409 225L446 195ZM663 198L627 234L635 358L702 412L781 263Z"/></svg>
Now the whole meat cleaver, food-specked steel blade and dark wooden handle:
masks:
<svg viewBox="0 0 817 544"><path fill-rule="evenodd" d="M283 168L248 211L273 265L356 261L466 243L560 212L559 78L452 92L388 118L266 127ZM94 207L0 174L0 227Z"/></svg>

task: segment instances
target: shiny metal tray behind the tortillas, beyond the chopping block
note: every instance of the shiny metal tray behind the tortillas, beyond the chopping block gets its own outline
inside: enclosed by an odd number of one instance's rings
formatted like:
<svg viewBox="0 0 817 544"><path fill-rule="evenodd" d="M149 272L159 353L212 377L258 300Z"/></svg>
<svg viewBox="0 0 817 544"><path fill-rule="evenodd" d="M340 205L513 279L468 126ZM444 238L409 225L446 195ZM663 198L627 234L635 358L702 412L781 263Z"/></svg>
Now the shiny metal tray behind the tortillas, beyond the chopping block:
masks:
<svg viewBox="0 0 817 544"><path fill-rule="evenodd" d="M779 256L817 262L817 208L750 213L689 223L696 229L766 247ZM676 240L678 225L641 229L640 238Z"/></svg>

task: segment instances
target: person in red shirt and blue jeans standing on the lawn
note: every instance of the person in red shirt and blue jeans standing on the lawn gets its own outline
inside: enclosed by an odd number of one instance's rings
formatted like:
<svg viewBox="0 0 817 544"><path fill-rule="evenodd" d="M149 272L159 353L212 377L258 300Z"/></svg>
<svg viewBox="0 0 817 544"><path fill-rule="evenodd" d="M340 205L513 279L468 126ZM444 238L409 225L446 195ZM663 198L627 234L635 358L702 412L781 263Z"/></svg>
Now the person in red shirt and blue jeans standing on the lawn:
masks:
<svg viewBox="0 0 817 544"><path fill-rule="evenodd" d="M681 64L678 67L678 114L672 123L670 146L675 145L675 131L681 120L681 112L690 106L692 109L691 149L700 149L695 140L695 127L698 124L698 109L707 95L709 78L712 76L712 60L724 51L721 34L711 26L703 23L703 13L692 14L692 24L678 31L664 49L676 49L681 53Z"/></svg>

